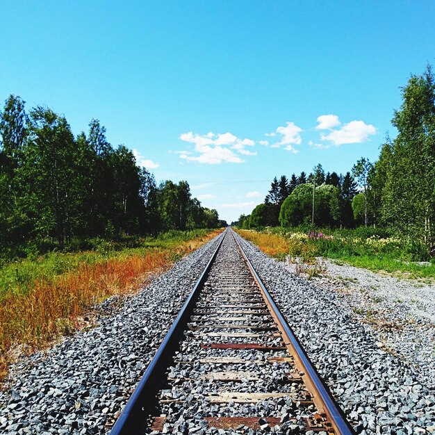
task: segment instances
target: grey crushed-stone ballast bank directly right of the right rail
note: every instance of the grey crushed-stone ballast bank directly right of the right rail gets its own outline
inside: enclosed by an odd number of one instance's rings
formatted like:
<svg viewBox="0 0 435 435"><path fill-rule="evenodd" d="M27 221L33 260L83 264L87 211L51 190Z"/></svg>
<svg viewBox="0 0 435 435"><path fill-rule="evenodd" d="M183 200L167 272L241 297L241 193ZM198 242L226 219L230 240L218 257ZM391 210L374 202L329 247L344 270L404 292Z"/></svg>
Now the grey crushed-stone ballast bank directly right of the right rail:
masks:
<svg viewBox="0 0 435 435"><path fill-rule="evenodd" d="M418 358L413 367L381 349L345 295L295 276L286 263L236 237L357 433L435 432L434 379L420 381ZM414 334L416 340L427 339L418 328Z"/></svg>

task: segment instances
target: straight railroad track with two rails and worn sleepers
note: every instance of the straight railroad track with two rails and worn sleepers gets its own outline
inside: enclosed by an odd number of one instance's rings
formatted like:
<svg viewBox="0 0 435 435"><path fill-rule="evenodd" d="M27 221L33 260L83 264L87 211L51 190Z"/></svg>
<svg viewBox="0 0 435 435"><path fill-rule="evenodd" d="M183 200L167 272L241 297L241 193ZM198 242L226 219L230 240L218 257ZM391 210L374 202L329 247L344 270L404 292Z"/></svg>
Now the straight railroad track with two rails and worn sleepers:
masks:
<svg viewBox="0 0 435 435"><path fill-rule="evenodd" d="M227 229L110 433L231 430L354 433Z"/></svg>

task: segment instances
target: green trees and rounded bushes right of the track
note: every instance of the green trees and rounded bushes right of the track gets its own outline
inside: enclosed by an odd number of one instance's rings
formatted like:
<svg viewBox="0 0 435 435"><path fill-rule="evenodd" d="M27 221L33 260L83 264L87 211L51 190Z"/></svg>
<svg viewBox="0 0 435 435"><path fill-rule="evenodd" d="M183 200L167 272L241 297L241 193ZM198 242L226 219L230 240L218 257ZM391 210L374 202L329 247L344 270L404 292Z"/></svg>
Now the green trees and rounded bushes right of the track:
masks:
<svg viewBox="0 0 435 435"><path fill-rule="evenodd" d="M402 88L402 105L391 121L379 158L361 157L346 174L318 164L310 174L272 181L263 204L234 225L243 228L372 227L435 254L435 78L429 65ZM422 255L423 257L425 255Z"/></svg>

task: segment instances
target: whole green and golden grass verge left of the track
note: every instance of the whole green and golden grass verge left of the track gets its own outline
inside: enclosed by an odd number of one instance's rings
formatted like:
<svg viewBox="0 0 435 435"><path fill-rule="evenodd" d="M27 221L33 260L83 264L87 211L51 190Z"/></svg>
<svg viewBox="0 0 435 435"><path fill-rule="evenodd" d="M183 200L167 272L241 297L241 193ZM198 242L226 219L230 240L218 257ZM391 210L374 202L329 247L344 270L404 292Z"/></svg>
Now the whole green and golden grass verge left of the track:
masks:
<svg viewBox="0 0 435 435"><path fill-rule="evenodd" d="M50 253L0 268L0 379L13 351L40 349L71 334L81 316L112 295L136 291L151 276L219 233L172 231L125 247L100 240L99 247L73 254Z"/></svg>

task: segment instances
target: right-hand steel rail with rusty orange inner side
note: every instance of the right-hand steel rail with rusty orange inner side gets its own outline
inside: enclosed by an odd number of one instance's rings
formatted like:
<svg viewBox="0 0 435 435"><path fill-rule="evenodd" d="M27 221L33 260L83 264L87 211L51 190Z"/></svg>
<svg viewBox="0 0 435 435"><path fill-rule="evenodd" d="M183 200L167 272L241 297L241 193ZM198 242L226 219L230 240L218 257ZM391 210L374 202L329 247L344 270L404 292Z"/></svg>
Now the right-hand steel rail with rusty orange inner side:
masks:
<svg viewBox="0 0 435 435"><path fill-rule="evenodd" d="M232 229L231 231L233 232ZM304 382L309 387L309 390L311 390L310 392L313 395L313 402L317 407L319 407L320 405L323 408L327 419L329 420L329 422L331 422L332 429L334 429L334 432L337 435L354 435L354 429L352 429L350 423L347 422L343 411L341 411L340 407L329 392L329 389L320 378L318 371L315 370L313 363L311 363L308 355L300 345L299 340L297 340L295 334L288 325L277 304L275 304L268 289L265 288L263 281L261 281L261 278L258 276L258 273L256 272L254 266L249 261L249 258L247 258L247 255L245 254L242 246L238 242L237 238L234 237L233 233L231 233L231 236L233 236L234 240L236 241L236 244L240 249L240 253L245 259L245 263L247 263L247 266L251 271L252 275L254 276L256 283L260 287L261 293L263 293L263 297L266 304L268 305L270 313L272 314L274 320L277 322L278 329L281 331L284 343L290 350L290 354L293 354L293 356L295 356L295 362L297 363L299 368L301 368L304 372L304 375L306 375L306 379L304 379ZM319 411L320 413L322 413L321 409L319 409Z"/></svg>

